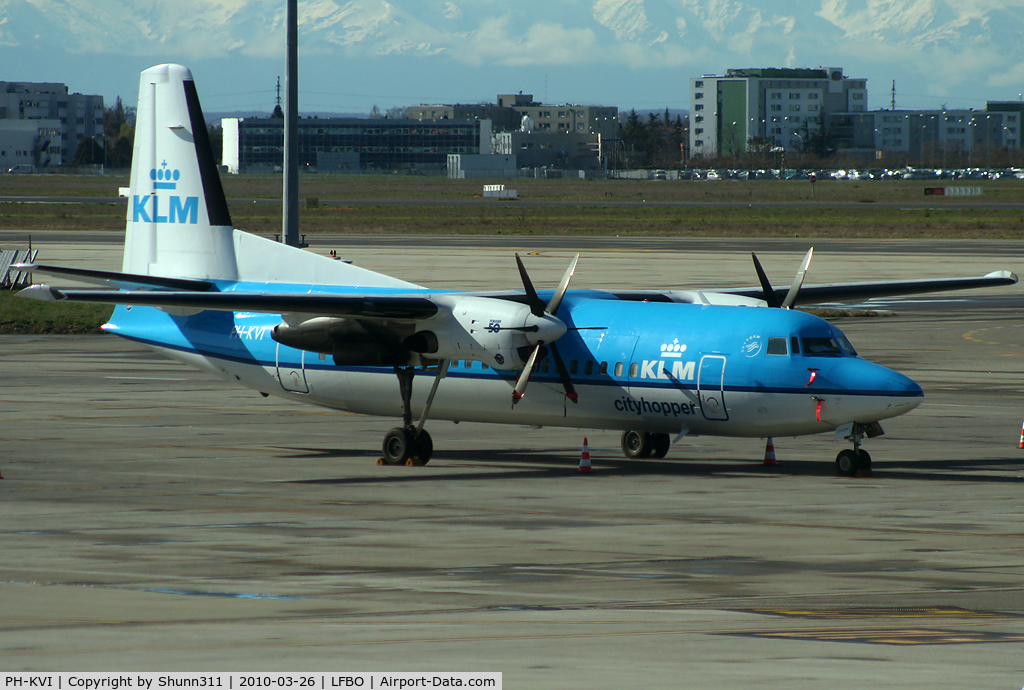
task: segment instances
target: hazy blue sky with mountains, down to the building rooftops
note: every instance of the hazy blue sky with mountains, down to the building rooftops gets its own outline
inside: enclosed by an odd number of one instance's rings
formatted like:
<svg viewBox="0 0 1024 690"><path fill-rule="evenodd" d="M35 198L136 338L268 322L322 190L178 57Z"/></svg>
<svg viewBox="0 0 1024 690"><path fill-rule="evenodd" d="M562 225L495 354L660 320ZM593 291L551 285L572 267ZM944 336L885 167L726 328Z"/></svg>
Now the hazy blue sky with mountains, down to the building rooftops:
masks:
<svg viewBox="0 0 1024 690"><path fill-rule="evenodd" d="M0 80L134 104L138 73L193 70L207 112L269 111L283 0L0 0ZM1024 0L305 0L302 112L492 101L689 107L728 68L842 67L869 107L984 107L1024 92Z"/></svg>

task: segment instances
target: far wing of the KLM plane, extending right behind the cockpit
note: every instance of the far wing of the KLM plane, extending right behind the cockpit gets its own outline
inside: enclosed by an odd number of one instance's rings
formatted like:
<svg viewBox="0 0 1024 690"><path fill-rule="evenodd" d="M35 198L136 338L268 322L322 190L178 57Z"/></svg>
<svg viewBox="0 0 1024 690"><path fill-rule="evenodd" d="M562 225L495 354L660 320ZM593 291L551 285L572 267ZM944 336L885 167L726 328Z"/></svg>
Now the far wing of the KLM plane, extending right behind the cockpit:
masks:
<svg viewBox="0 0 1024 690"><path fill-rule="evenodd" d="M925 278L921 281L887 281L880 283L837 283L833 285L804 286L800 289L795 304L821 304L824 302L851 302L876 297L902 297L950 290L971 290L993 288L1017 283L1017 275L1008 270L992 271L978 277ZM714 292L754 299L764 299L762 288L741 288L738 290L716 290ZM781 302L788 288L774 290Z"/></svg>

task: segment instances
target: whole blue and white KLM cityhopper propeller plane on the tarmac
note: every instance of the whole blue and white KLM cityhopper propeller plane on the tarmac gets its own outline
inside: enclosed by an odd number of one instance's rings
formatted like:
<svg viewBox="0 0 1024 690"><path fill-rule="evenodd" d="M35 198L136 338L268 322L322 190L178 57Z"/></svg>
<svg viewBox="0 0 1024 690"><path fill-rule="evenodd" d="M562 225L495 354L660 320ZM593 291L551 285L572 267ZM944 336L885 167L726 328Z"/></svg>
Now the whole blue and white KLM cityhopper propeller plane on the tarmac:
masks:
<svg viewBox="0 0 1024 690"><path fill-rule="evenodd" d="M913 381L859 357L796 304L1016 283L981 277L719 292L429 290L239 231L191 74L142 73L122 272L34 265L105 290L28 297L118 305L105 330L260 391L402 419L387 463L429 461L430 419L615 429L630 458L686 434L835 432L852 475L862 439L921 403ZM579 257L578 257L579 258Z"/></svg>

